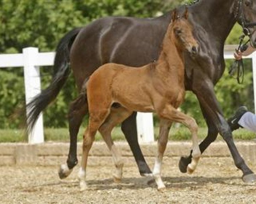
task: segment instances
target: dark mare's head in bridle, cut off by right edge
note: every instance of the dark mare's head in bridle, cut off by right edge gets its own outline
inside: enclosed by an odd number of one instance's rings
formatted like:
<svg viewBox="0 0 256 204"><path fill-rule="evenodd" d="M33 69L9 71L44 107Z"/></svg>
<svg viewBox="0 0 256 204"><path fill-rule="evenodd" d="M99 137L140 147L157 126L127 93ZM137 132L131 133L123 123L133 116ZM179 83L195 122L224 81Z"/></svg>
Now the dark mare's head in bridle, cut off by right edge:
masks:
<svg viewBox="0 0 256 204"><path fill-rule="evenodd" d="M244 34L249 35L250 43L256 48L256 0L237 0L239 24Z"/></svg>

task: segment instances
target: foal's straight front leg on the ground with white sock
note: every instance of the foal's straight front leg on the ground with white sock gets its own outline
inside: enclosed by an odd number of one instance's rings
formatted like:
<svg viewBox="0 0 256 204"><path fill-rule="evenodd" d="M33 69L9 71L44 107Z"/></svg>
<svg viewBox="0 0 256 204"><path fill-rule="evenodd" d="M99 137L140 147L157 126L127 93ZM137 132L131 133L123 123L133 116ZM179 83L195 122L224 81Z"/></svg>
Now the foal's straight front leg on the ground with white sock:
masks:
<svg viewBox="0 0 256 204"><path fill-rule="evenodd" d="M169 120L160 119L160 132L159 132L159 137L157 142L158 151L157 151L157 157L156 157L156 161L155 161L154 169L152 173L157 183L157 190L159 191L165 190L165 185L161 178L161 166L163 161L163 153L166 150L166 144L168 141L168 134L169 134L171 125L172 125L172 122L170 122Z"/></svg>

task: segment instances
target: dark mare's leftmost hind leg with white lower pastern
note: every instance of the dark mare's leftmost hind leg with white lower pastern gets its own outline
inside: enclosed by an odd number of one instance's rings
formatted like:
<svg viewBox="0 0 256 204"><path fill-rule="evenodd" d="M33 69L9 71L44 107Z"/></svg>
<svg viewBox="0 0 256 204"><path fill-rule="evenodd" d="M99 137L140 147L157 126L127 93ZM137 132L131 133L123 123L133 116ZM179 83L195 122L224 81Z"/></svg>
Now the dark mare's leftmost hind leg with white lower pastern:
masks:
<svg viewBox="0 0 256 204"><path fill-rule="evenodd" d="M84 115L88 111L86 93L81 93L79 97L70 104L70 110L68 114L69 120L69 132L70 132L70 149L67 158L67 164L61 164L58 175L59 177L66 178L70 175L73 167L77 164L77 134L81 125Z"/></svg>

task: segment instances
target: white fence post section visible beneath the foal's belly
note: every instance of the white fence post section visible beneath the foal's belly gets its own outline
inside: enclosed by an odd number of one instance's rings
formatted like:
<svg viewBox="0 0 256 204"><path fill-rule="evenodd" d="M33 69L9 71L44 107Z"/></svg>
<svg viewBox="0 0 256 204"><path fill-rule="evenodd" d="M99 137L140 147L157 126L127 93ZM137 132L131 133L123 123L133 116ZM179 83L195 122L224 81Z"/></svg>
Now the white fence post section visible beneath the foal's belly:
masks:
<svg viewBox="0 0 256 204"><path fill-rule="evenodd" d="M153 113L137 113L137 135L139 143L154 142Z"/></svg>

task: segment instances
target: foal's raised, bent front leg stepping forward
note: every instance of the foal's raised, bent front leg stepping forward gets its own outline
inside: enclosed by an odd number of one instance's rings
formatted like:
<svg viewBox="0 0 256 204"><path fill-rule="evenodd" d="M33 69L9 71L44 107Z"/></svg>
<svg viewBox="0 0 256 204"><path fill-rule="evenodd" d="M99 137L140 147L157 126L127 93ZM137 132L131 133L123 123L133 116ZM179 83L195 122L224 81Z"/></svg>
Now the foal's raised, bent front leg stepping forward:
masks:
<svg viewBox="0 0 256 204"><path fill-rule="evenodd" d="M163 110L159 112L159 115L160 117L166 119L168 118L171 121L182 123L183 125L188 127L190 132L192 133L192 161L188 165L187 171L188 173L193 173L201 156L197 136L198 125L196 124L195 119L185 115L184 113L181 113L180 111L173 108L171 105L167 105L165 108L163 108Z"/></svg>

